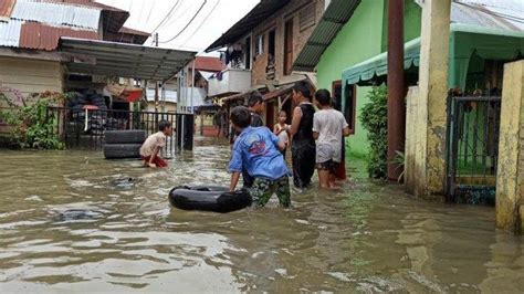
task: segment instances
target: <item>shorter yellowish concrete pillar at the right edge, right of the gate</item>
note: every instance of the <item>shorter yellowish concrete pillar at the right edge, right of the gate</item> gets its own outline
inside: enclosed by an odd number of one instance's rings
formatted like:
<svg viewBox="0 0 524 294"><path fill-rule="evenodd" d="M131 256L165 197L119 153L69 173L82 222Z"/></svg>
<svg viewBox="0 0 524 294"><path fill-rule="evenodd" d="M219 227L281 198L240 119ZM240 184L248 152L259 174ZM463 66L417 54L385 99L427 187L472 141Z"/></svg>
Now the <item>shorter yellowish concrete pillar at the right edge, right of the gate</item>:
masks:
<svg viewBox="0 0 524 294"><path fill-rule="evenodd" d="M496 228L522 233L524 203L524 61L504 66L499 170L496 172Z"/></svg>

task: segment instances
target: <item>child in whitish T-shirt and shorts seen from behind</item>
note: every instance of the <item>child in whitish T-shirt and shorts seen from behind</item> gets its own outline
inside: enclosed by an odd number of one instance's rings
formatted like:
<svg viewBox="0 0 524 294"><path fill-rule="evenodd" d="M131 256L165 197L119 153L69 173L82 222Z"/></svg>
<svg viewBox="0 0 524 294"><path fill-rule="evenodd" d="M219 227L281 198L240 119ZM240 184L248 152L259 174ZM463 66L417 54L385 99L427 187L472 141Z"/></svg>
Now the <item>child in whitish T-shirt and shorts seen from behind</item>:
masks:
<svg viewBox="0 0 524 294"><path fill-rule="evenodd" d="M334 189L335 171L342 161L342 138L349 136L349 127L344 115L333 108L329 91L318 90L315 98L321 109L313 118L318 181L321 188Z"/></svg>

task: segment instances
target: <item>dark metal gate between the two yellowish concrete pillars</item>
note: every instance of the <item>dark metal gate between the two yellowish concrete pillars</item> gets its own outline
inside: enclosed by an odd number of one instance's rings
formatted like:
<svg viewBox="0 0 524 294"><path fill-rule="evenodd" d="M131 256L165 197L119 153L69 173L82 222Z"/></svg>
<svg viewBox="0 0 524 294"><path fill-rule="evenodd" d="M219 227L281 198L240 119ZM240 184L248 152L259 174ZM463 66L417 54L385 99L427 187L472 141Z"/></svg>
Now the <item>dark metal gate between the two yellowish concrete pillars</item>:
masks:
<svg viewBox="0 0 524 294"><path fill-rule="evenodd" d="M448 98L448 200L495 202L501 97Z"/></svg>

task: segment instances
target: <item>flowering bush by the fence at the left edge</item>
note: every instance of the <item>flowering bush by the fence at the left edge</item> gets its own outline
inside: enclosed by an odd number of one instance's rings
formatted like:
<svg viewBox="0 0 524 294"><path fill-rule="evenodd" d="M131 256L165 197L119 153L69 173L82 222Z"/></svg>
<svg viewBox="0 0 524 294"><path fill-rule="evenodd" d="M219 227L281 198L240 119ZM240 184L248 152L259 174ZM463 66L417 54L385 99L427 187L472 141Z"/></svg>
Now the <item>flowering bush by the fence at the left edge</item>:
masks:
<svg viewBox="0 0 524 294"><path fill-rule="evenodd" d="M57 93L33 95L33 104L17 107L4 95L0 96L10 106L0 112L0 118L10 126L10 139L21 148L63 149L57 134L57 114L48 113L48 107L63 99Z"/></svg>

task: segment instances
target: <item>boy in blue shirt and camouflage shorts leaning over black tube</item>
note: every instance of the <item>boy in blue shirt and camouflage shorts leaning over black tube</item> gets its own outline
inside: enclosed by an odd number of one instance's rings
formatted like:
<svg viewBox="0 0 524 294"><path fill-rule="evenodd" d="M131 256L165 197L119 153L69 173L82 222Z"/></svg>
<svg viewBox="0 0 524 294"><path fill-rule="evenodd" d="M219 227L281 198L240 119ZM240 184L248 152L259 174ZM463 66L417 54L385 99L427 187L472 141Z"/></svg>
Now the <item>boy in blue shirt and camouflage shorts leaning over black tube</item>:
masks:
<svg viewBox="0 0 524 294"><path fill-rule="evenodd" d="M234 191L242 170L247 170L254 178L250 193L259 207L265 206L275 192L280 203L289 208L290 170L280 153L285 144L266 127L251 127L251 114L247 107L238 106L231 111L231 124L240 135L229 164L232 172L230 190Z"/></svg>

